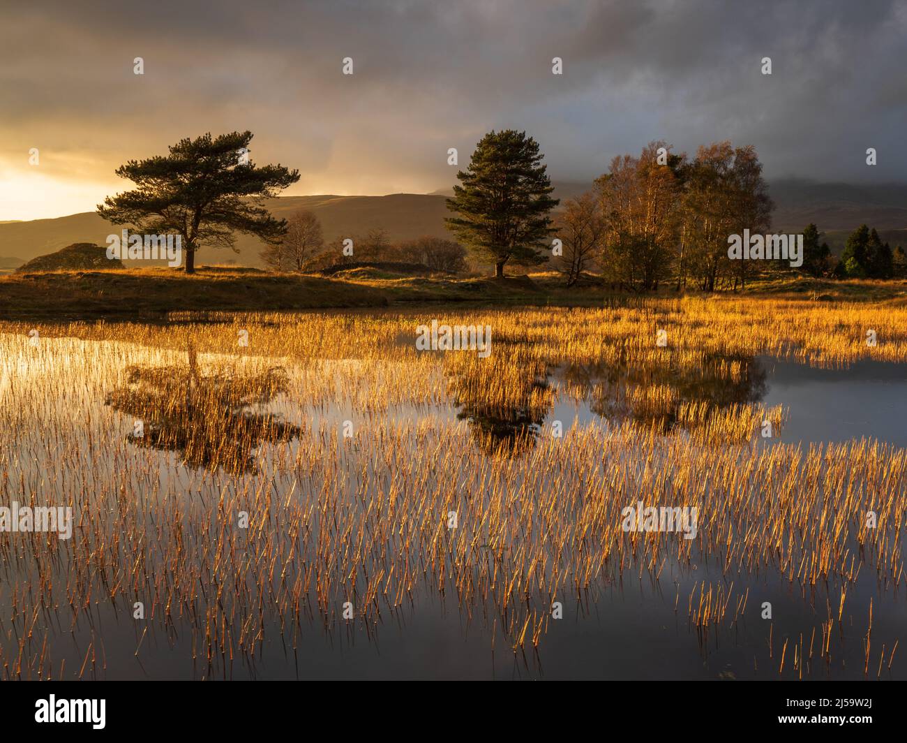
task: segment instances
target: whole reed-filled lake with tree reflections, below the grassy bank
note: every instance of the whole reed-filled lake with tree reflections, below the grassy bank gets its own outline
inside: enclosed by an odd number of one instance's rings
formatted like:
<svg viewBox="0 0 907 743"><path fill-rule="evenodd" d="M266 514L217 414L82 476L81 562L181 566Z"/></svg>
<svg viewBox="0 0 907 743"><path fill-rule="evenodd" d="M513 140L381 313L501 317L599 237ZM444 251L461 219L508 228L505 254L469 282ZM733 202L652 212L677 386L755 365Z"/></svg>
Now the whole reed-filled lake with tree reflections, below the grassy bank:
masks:
<svg viewBox="0 0 907 743"><path fill-rule="evenodd" d="M3 678L907 678L907 364L555 312L0 323Z"/></svg>

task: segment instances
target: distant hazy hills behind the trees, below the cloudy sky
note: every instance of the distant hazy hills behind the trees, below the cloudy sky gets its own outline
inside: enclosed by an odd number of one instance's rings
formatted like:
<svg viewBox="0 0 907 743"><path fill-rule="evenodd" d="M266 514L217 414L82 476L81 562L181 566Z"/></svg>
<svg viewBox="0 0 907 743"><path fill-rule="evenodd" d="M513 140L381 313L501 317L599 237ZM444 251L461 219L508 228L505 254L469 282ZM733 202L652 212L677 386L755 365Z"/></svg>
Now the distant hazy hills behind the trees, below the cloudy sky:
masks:
<svg viewBox="0 0 907 743"><path fill-rule="evenodd" d="M564 201L591 188L591 183L554 181L554 196ZM875 227L883 239L907 246L907 183L848 184L780 180L769 183L775 200L773 231L793 233L815 223L826 233L837 250L846 233L862 223ZM365 234L375 227L384 228L392 241L410 240L422 235L450 237L444 228L449 214L444 190L435 193L391 193L386 196L282 196L269 199L268 209L276 217L288 217L297 209L310 209L324 227L325 239ZM73 243L105 245L108 234L122 227L105 222L86 212L56 219L0 223L0 255L25 262L38 255L54 253ZM260 266L261 243L245 235L237 236L239 254L229 250L202 248L200 263L226 263ZM125 262L129 265L130 262Z"/></svg>

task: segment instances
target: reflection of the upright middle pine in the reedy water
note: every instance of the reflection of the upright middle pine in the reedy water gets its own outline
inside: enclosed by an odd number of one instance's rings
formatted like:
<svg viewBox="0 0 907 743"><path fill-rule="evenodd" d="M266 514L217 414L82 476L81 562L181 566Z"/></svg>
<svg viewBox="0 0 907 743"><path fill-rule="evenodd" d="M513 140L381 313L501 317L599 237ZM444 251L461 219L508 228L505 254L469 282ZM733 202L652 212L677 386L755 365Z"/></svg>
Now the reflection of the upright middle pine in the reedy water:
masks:
<svg viewBox="0 0 907 743"><path fill-rule="evenodd" d="M487 359L470 355L446 366L457 418L483 451L509 456L535 445L552 405L544 363L499 345Z"/></svg>

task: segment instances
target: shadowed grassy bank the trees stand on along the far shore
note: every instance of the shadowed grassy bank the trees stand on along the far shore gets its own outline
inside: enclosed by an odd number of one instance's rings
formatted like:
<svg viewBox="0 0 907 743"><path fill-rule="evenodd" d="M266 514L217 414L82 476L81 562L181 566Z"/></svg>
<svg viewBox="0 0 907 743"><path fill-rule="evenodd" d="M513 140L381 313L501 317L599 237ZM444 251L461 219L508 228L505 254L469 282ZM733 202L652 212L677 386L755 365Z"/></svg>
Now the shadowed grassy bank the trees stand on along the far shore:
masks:
<svg viewBox="0 0 907 743"><path fill-rule="evenodd" d="M597 282L566 288L553 272L491 278L395 276L359 269L336 277L207 266L194 276L169 268L29 272L0 276L0 318L160 317L180 310L281 311L455 303L595 306L615 292ZM676 296L672 286L658 292ZM696 292L688 292L696 293ZM819 302L907 302L907 282L781 278L747 294Z"/></svg>

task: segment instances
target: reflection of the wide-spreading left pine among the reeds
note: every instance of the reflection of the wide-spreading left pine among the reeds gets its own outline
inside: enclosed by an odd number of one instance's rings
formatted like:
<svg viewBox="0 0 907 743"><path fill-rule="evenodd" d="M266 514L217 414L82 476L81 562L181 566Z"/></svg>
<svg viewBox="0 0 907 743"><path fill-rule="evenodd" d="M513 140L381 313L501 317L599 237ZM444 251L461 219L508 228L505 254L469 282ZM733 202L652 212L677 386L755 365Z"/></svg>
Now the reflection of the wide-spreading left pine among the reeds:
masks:
<svg viewBox="0 0 907 743"><path fill-rule="evenodd" d="M251 471L252 450L261 442L288 441L301 433L273 413L254 410L287 390L287 374L280 368L249 375L202 374L190 347L187 365L131 366L126 378L126 385L106 402L142 421L141 435L132 433L127 440L181 451L183 461L194 467Z"/></svg>

